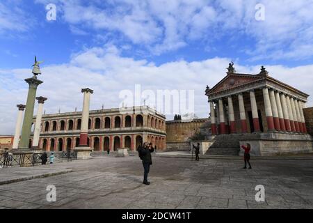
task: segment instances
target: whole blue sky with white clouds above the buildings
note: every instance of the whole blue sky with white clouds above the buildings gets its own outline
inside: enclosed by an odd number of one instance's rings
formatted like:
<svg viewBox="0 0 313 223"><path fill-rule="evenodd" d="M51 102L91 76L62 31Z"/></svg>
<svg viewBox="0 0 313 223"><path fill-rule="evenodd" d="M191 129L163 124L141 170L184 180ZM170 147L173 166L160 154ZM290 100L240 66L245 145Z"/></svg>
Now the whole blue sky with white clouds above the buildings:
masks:
<svg viewBox="0 0 313 223"><path fill-rule="evenodd" d="M47 20L49 3L56 20ZM195 114L207 117L205 86L230 61L237 72L264 65L312 95L312 11L312 0L1 0L0 134L14 132L34 55L45 61L38 96L49 98L47 114L81 110L85 87L95 90L90 109L118 107L120 92L141 84L193 90Z"/></svg>

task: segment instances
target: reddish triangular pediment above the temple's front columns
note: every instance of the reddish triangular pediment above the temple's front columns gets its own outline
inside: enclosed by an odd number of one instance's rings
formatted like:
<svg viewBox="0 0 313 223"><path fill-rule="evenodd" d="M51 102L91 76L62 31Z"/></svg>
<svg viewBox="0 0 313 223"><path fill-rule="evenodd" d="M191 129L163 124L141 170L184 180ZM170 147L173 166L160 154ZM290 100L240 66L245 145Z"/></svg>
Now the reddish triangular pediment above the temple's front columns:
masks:
<svg viewBox="0 0 313 223"><path fill-rule="evenodd" d="M227 75L218 84L207 92L207 95L218 93L229 89L234 89L245 84L264 80L264 77L259 75L245 75L245 74L233 74Z"/></svg>

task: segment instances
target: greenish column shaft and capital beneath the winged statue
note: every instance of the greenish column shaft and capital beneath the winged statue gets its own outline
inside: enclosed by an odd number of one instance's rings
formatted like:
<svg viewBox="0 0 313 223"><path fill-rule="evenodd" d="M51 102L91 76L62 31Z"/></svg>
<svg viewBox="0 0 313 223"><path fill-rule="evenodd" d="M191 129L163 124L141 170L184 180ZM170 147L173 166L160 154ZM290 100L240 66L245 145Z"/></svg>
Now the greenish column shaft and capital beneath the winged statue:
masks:
<svg viewBox="0 0 313 223"><path fill-rule="evenodd" d="M29 93L27 95L26 109L24 114L24 121L22 127L22 137L19 142L19 148L29 148L29 137L31 136L31 123L33 121L33 108L35 106L35 97L37 87L43 82L37 79L37 76L25 79L25 82L29 84Z"/></svg>

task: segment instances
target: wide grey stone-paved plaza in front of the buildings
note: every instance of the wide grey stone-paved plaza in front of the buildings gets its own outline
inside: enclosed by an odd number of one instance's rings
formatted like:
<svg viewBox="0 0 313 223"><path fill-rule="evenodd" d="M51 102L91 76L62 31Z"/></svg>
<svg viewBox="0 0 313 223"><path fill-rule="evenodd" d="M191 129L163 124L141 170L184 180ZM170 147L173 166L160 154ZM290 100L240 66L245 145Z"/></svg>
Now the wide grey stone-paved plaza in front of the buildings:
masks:
<svg viewBox="0 0 313 223"><path fill-rule="evenodd" d="M0 185L0 208L313 208L313 160L251 163L154 155L147 186L138 156L61 162L44 167L59 175ZM56 186L56 202L47 201L47 185ZM255 201L256 185L266 201Z"/></svg>

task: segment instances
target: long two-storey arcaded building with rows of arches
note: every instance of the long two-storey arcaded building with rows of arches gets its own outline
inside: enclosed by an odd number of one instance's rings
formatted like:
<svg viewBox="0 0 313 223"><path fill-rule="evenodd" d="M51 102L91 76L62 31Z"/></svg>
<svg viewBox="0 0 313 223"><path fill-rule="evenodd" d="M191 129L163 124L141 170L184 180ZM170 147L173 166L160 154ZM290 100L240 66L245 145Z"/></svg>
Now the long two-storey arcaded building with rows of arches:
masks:
<svg viewBox="0 0 313 223"><path fill-rule="evenodd" d="M44 114L40 148L43 151L69 151L77 147L81 133L81 115L81 112ZM134 151L139 144L152 142L158 150L164 150L165 119L166 116L147 106L90 111L88 146L93 151L116 151L118 148Z"/></svg>

